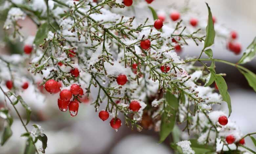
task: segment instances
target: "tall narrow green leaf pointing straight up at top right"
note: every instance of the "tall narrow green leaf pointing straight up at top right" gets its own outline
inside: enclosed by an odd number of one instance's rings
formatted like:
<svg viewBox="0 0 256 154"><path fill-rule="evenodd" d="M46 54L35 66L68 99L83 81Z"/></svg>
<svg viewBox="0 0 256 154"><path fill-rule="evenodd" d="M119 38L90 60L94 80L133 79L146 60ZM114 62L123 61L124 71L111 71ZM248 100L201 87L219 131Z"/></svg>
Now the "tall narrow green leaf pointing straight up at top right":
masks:
<svg viewBox="0 0 256 154"><path fill-rule="evenodd" d="M212 13L211 13L211 9L208 6L208 4L206 3L206 6L208 8L208 23L207 23L207 27L206 27L206 38L204 41L204 47L203 50L207 47L210 47L211 45L213 45L214 43L214 38L215 38L215 30L214 30L214 24L213 24L213 20L212 20Z"/></svg>

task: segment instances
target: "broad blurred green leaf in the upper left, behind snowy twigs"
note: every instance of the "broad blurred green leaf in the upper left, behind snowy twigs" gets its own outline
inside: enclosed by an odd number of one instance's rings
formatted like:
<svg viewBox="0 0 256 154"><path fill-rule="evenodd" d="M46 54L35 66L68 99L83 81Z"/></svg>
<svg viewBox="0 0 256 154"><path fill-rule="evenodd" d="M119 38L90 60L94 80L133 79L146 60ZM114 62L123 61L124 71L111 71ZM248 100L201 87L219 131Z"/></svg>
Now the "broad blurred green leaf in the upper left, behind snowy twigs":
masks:
<svg viewBox="0 0 256 154"><path fill-rule="evenodd" d="M48 34L48 24L44 23L38 28L36 32L34 44L38 46L44 43L44 38L47 37L47 34Z"/></svg>

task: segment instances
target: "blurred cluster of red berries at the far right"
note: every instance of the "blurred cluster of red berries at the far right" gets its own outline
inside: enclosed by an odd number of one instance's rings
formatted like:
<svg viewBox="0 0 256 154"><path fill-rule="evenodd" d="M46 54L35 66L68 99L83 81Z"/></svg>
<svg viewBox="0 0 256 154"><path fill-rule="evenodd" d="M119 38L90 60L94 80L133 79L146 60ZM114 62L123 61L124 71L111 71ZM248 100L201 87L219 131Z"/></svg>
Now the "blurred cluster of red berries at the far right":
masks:
<svg viewBox="0 0 256 154"><path fill-rule="evenodd" d="M230 40L227 43L227 48L234 52L236 55L241 53L241 44L239 42L235 42L234 40L236 40L238 37L237 32L235 31L231 31L230 33Z"/></svg>

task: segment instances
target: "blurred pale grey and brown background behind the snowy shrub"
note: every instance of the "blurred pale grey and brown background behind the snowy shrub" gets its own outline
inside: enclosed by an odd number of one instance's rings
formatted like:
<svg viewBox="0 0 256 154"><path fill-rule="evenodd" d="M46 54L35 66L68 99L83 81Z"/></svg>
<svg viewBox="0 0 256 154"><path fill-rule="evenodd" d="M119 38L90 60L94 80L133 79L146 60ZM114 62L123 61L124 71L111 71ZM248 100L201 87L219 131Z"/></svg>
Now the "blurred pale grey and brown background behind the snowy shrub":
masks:
<svg viewBox="0 0 256 154"><path fill-rule="evenodd" d="M194 14L202 16L202 20L207 20L207 9L205 3L211 7L213 16L217 19L216 28L225 27L228 30L235 30L238 33L238 42L242 45L242 50L252 42L256 36L256 1L255 0L154 0L150 6L156 10L161 10L166 6L179 9L187 5ZM165 10L166 11L166 10ZM188 11L189 12L189 11ZM167 17L168 18L168 15ZM181 14L182 18L182 14ZM3 24L3 23L1 23ZM23 26L22 32L26 35L35 35L36 26L30 20L20 22ZM6 39L3 30L0 30L1 42ZM19 48L20 47L20 48ZM190 43L182 49L181 57L198 56L202 45L196 46ZM218 37L212 47L214 58L223 59L236 63L242 56L235 55L226 49L226 40ZM18 42L11 43L8 46L0 44L0 54L22 53L22 45ZM243 134L255 132L255 108L256 95L251 87L248 86L244 76L235 68L225 64L217 63L216 71L226 73L224 77L228 91L231 96L232 114L230 119L236 121ZM246 68L256 73L256 59L245 65ZM137 132L131 128L122 125L118 131L113 130L109 125L109 120L102 122L98 118L98 112L95 112L94 106L90 103L93 96L86 103L79 107L78 115L71 118L68 112L60 112L57 107L56 95L47 95L46 98L40 96L30 96L34 87L29 87L23 92L24 100L32 107L32 120L28 125L32 130L32 124L39 124L44 128L48 136L47 154L171 154L169 146L170 139L162 144L157 144L158 133L154 130L143 130ZM29 97L26 97L29 96ZM0 102L4 102L3 94L0 94ZM227 106L223 104L222 109L227 113ZM22 109L22 107L20 107ZM15 114L13 114L15 117ZM123 118L123 117L121 117ZM122 120L123 121L123 120ZM1 125L2 122L0 121ZM1 127L0 127L1 128ZM20 137L24 133L20 121L16 118L11 126L13 135L9 141L0 147L0 154L22 153L25 148L26 138ZM2 134L2 129L0 129ZM182 138L186 139L186 132ZM245 139L246 146L254 147L249 138ZM40 143L37 146L41 146ZM255 150L255 149L254 149Z"/></svg>

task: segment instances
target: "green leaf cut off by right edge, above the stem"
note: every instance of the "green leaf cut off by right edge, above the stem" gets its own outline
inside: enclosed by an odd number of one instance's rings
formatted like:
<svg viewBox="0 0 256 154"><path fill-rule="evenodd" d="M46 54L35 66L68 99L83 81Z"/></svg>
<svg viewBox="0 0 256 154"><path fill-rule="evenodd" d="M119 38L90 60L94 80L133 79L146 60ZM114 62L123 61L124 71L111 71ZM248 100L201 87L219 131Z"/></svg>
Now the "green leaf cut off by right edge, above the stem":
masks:
<svg viewBox="0 0 256 154"><path fill-rule="evenodd" d="M256 37L252 41L252 43L246 48L243 56L238 61L238 64L245 64L250 62L256 55Z"/></svg>

